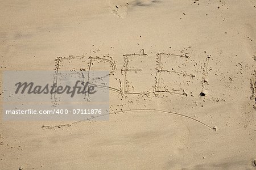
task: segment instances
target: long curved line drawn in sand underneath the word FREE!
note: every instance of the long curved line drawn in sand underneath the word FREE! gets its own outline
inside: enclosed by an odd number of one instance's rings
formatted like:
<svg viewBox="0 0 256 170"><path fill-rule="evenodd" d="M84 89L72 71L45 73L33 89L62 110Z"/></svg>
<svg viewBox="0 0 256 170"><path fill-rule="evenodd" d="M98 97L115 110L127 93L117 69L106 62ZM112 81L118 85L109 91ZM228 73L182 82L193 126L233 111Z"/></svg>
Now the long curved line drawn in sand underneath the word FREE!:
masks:
<svg viewBox="0 0 256 170"><path fill-rule="evenodd" d="M216 131L215 127L212 128L209 125L205 124L204 122L201 122L201 121L199 121L199 120L197 120L195 118L186 116L186 115L181 114L181 113L162 111L162 110L158 110L158 109L130 109L130 110L126 110L126 111L112 112L112 113L109 113L109 114L118 114L118 113L126 113L126 112L159 112L159 113L164 113L164 114L171 114L171 115L175 115L175 116L180 116L180 117L188 118L189 120L195 121L195 122L197 122L197 123L199 123L201 125L204 125L205 127L209 128L209 129L212 129L212 130ZM102 115L97 116L97 117L101 117L101 116L105 116L105 115L106 114L102 114ZM53 126L43 125L42 128L47 128L47 129L61 128L63 126L71 126L73 124L77 124L77 123L83 122L83 121L88 121L88 120L91 121L91 120L93 120L93 118L97 118L97 117L88 118L86 120L75 121L75 122L72 122L71 124L65 124L65 125L53 125Z"/></svg>

